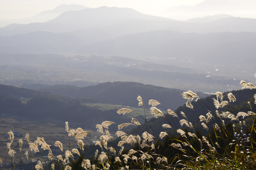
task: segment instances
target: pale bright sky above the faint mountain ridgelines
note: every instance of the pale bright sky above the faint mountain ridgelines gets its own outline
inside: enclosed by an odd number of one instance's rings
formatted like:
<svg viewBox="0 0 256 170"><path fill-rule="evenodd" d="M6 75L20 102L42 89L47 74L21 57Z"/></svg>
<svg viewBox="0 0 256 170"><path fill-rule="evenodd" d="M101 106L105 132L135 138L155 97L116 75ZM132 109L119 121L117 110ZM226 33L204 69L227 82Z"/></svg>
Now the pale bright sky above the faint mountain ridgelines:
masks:
<svg viewBox="0 0 256 170"><path fill-rule="evenodd" d="M196 5L203 0L0 0L0 19L25 18L42 11L54 9L60 4L78 4L91 8L101 6L129 7L141 13L158 15L171 6ZM256 0L229 0L255 7Z"/></svg>

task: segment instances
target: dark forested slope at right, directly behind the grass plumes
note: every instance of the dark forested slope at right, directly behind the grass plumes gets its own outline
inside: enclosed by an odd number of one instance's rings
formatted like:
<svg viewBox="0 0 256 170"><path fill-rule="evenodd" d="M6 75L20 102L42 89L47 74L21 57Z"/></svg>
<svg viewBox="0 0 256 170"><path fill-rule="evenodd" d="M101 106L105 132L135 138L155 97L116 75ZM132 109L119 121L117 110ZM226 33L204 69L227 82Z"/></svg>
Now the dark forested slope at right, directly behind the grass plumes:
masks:
<svg viewBox="0 0 256 170"><path fill-rule="evenodd" d="M248 111L251 111L250 110L250 106L248 105L248 101L251 101L251 106L252 108L255 110L256 108L256 105L254 104L254 98L253 98L253 94L255 94L255 92L251 89L243 89L243 90L237 90L237 91L230 91L237 99L237 102L238 104L240 105L240 107L242 108L242 111L243 112L248 112ZM236 109L236 111L234 111L232 109L231 106L225 106L223 107L223 110L222 109L216 109L215 105L214 105L214 102L212 100L212 98L215 98L216 99L216 95L211 95L211 96L208 96L206 98L201 98L201 100L198 100L197 102L196 101L192 101L191 104L193 105L193 109L194 111L191 109L191 108L188 108L186 107L186 105L181 105L179 106L176 110L174 110L174 112L178 115L179 119L185 119L185 117L183 117L180 112L184 112L188 118L188 121L191 122L195 128L195 130L200 130L201 132L204 132L204 129L202 128L201 126L201 122L199 122L197 116L199 117L200 115L203 115L207 118L206 114L208 113L208 111L212 111L213 113L216 112L216 110L219 110L219 111L229 111L229 112L232 112L236 115L237 112L241 112L240 110L240 107L237 105L236 102L229 102L229 99L228 99L228 96L227 94L230 93L230 92L225 92L223 93L223 96L224 96L224 100L228 101L228 103L234 107ZM198 94L197 94L198 95ZM198 95L200 97L200 95ZM163 100L160 100L159 102L162 104ZM165 105L163 105L165 107ZM161 108L160 106L158 108ZM229 109L231 108L231 110ZM163 113L166 113L163 111ZM170 122L172 123L173 127L175 127L175 125L177 127L180 127L180 124L179 124L179 119L177 117L172 117L172 119L167 116L170 120ZM228 123L229 120L228 119L225 119L225 122ZM141 122L142 123L142 122ZM159 134L160 132L162 131L166 131L166 129L164 130L162 125L163 124L169 124L167 122L167 120L164 118L164 117L159 117L159 118L151 118L149 121L148 121L149 124L151 124L151 127L154 129L154 132L156 134ZM174 125L175 124L175 125ZM143 126L145 126L145 124L143 124ZM185 126L184 126L185 127ZM140 130L136 129L136 128L133 128L131 130L131 133L134 134L134 133L139 133ZM149 130L149 133L150 134L154 134L152 129ZM173 132L171 132L172 134ZM204 134L206 135L206 134Z"/></svg>

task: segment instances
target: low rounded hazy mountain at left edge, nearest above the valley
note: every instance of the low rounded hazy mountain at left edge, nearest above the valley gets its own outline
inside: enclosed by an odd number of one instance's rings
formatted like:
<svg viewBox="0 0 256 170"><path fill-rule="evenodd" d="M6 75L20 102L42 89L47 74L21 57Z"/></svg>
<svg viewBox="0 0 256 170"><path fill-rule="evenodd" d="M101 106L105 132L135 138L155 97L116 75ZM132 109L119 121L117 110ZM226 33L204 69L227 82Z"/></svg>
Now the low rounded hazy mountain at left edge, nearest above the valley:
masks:
<svg viewBox="0 0 256 170"><path fill-rule="evenodd" d="M77 37L43 31L0 37L0 51L4 53L74 53L82 45Z"/></svg>

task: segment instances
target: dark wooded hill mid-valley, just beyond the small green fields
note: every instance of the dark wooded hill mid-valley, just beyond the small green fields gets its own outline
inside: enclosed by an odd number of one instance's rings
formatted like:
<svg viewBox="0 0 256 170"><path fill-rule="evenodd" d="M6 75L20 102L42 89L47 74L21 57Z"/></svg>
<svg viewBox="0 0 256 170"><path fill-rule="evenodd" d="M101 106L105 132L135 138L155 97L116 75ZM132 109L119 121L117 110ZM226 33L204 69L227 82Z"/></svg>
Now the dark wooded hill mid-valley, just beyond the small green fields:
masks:
<svg viewBox="0 0 256 170"><path fill-rule="evenodd" d="M95 86L76 87L53 85L50 88L41 88L40 91L49 91L70 97L95 98L98 103L122 104L126 106L138 106L137 96L141 96L144 103L149 100L159 100L170 109L186 103L183 99L183 90L170 89L136 82L106 82ZM200 93L205 96L205 94ZM146 108L150 108L148 104Z"/></svg>

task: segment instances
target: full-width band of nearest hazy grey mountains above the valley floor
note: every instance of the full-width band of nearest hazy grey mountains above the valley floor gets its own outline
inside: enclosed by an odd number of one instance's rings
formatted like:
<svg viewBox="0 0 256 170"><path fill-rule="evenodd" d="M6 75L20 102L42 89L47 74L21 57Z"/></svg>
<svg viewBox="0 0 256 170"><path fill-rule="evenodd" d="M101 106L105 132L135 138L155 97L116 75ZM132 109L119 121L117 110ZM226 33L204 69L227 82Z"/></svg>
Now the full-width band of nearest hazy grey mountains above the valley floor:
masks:
<svg viewBox="0 0 256 170"><path fill-rule="evenodd" d="M73 35L45 31L0 37L1 53L103 55L134 59L187 57L190 62L204 63L218 63L218 59L251 63L255 45L256 33L253 32L198 34L158 30L123 35L89 45L88 41Z"/></svg>

